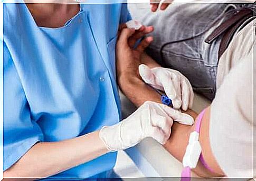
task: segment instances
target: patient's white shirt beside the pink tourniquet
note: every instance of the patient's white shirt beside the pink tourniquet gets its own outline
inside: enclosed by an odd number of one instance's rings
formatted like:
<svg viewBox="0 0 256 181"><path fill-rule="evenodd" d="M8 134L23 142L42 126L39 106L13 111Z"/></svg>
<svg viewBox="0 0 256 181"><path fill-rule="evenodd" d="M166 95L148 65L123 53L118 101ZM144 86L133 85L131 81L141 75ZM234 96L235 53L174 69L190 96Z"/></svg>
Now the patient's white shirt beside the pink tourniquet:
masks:
<svg viewBox="0 0 256 181"><path fill-rule="evenodd" d="M255 176L254 45L255 26L251 22L235 35L219 62L217 93L211 105L210 142L213 154L227 177Z"/></svg>

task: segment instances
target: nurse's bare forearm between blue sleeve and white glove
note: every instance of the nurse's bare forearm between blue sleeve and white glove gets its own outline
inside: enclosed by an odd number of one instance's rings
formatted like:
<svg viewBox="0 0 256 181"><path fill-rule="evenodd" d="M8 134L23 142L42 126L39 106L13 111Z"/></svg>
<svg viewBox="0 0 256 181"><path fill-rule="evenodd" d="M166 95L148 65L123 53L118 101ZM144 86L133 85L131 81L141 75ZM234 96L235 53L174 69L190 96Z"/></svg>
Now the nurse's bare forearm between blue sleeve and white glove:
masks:
<svg viewBox="0 0 256 181"><path fill-rule="evenodd" d="M16 164L5 170L4 178L34 180L49 177L106 153L108 149L99 138L99 132L62 142L41 142L35 144Z"/></svg>

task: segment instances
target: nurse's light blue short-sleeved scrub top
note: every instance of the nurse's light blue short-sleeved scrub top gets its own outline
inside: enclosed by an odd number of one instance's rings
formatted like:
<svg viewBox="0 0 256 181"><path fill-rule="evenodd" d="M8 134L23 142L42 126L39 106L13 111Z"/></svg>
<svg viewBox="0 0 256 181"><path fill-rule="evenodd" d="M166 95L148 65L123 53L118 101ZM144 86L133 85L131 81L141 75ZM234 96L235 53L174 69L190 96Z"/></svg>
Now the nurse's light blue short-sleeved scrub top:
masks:
<svg viewBox="0 0 256 181"><path fill-rule="evenodd" d="M45 28L25 4L4 4L4 170L37 142L74 138L120 119L115 45L119 23L131 19L127 4L80 7L65 26ZM97 177L116 156L53 177Z"/></svg>

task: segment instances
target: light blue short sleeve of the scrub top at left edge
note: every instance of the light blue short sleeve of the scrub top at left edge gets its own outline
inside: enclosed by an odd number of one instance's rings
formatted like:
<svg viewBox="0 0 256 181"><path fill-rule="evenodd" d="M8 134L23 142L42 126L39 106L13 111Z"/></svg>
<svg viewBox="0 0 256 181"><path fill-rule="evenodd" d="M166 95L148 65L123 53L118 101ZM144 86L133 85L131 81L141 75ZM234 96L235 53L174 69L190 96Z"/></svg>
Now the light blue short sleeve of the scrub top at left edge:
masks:
<svg viewBox="0 0 256 181"><path fill-rule="evenodd" d="M42 139L42 131L31 119L20 78L4 43L4 170Z"/></svg>

